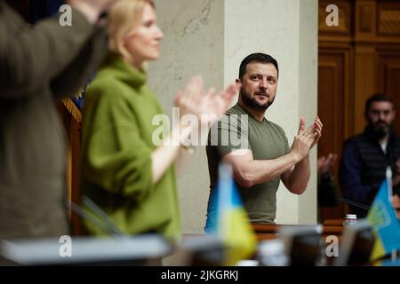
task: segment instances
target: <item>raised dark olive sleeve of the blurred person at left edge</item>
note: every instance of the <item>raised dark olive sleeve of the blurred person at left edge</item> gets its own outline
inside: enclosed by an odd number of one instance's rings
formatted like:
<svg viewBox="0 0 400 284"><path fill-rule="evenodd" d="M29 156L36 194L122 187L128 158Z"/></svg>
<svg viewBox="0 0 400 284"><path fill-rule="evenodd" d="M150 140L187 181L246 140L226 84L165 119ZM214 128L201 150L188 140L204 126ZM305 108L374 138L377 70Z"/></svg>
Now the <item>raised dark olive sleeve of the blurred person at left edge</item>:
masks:
<svg viewBox="0 0 400 284"><path fill-rule="evenodd" d="M50 83L76 58L93 27L72 10L72 26L59 19L43 20L29 28L10 7L0 11L0 96L17 97Z"/></svg>

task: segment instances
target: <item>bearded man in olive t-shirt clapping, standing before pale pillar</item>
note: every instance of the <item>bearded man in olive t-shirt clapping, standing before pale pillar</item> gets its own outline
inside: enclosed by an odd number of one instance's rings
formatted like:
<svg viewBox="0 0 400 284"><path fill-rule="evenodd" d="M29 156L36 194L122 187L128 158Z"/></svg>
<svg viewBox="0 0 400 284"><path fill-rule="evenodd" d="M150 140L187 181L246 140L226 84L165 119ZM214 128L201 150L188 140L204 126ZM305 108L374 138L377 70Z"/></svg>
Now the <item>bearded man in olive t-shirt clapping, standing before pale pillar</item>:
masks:
<svg viewBox="0 0 400 284"><path fill-rule="evenodd" d="M229 163L252 223L273 223L276 191L282 180L295 194L304 193L310 176L308 153L321 137L316 117L307 129L300 119L298 136L289 147L284 130L265 118L276 97L278 65L268 54L253 53L239 68L236 106L215 123L206 148L211 180L205 231L214 226L212 196L218 181L218 165Z"/></svg>

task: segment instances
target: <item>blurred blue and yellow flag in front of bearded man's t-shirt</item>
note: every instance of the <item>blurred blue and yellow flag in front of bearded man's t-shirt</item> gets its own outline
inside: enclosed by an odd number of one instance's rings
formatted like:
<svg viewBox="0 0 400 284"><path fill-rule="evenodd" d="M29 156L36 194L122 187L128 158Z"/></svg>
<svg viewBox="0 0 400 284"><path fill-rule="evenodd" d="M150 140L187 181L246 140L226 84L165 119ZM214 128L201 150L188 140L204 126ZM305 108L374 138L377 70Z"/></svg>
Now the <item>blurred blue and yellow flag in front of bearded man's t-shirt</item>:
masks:
<svg viewBox="0 0 400 284"><path fill-rule="evenodd" d="M232 168L221 163L219 177L213 198L217 207L213 233L217 233L227 247L224 264L235 265L239 260L252 256L257 239L237 193Z"/></svg>

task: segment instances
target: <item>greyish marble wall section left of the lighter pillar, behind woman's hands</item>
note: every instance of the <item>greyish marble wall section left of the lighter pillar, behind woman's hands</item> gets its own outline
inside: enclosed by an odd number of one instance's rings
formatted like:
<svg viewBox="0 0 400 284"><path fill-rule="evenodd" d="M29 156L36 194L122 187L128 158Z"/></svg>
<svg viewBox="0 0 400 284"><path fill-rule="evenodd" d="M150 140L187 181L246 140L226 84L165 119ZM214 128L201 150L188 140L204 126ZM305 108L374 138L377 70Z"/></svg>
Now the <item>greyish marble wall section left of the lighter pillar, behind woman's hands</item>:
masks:
<svg viewBox="0 0 400 284"><path fill-rule="evenodd" d="M149 66L149 84L172 114L176 91L201 74L207 86L223 87L224 1L156 0L158 24L164 32L161 58ZM204 233L209 183L205 147L196 147L179 178L183 233Z"/></svg>

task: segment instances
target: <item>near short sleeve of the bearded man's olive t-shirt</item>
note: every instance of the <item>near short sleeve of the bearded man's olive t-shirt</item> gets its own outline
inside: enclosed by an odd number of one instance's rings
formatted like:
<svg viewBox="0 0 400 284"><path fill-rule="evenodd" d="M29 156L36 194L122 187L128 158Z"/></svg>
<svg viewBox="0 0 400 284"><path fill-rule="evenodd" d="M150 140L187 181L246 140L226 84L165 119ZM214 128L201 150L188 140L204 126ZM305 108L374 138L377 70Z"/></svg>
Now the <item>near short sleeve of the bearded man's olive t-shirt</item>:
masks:
<svg viewBox="0 0 400 284"><path fill-rule="evenodd" d="M216 146L221 158L236 150L251 149L247 120L246 115L226 114L212 125L209 145Z"/></svg>

